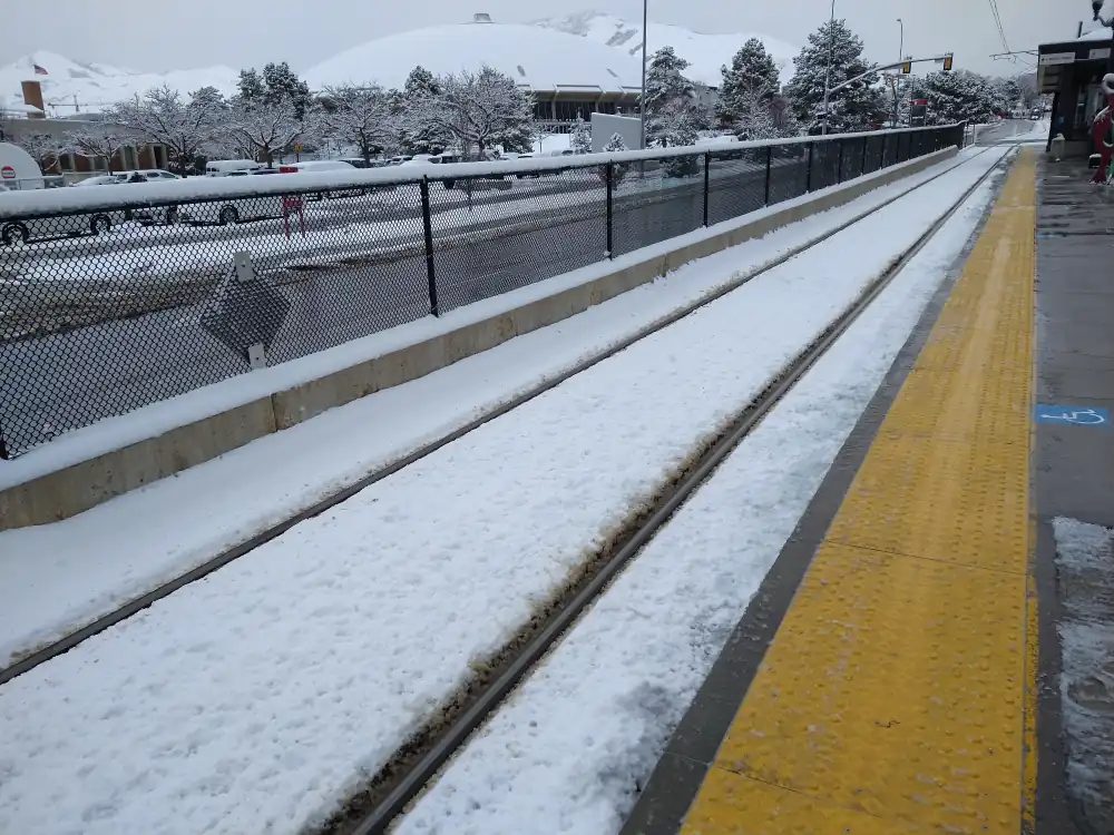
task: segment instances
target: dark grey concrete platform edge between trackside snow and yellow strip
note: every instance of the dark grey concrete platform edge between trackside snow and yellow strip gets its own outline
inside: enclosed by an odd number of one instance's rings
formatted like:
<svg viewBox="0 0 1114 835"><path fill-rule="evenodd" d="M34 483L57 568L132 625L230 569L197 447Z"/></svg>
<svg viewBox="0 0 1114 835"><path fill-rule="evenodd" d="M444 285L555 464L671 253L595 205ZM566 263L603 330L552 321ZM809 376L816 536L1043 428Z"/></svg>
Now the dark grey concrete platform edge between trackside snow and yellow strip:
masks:
<svg viewBox="0 0 1114 835"><path fill-rule="evenodd" d="M1008 170L1007 167L1005 173ZM987 203L962 252L951 264L901 346L793 533L713 664L671 737L665 753L642 788L620 835L676 835L681 831L688 808L715 762L720 745L804 579L813 554L823 541L882 420L939 318L975 243L983 234L1005 181L1006 177L1003 176L995 183L995 194Z"/></svg>

